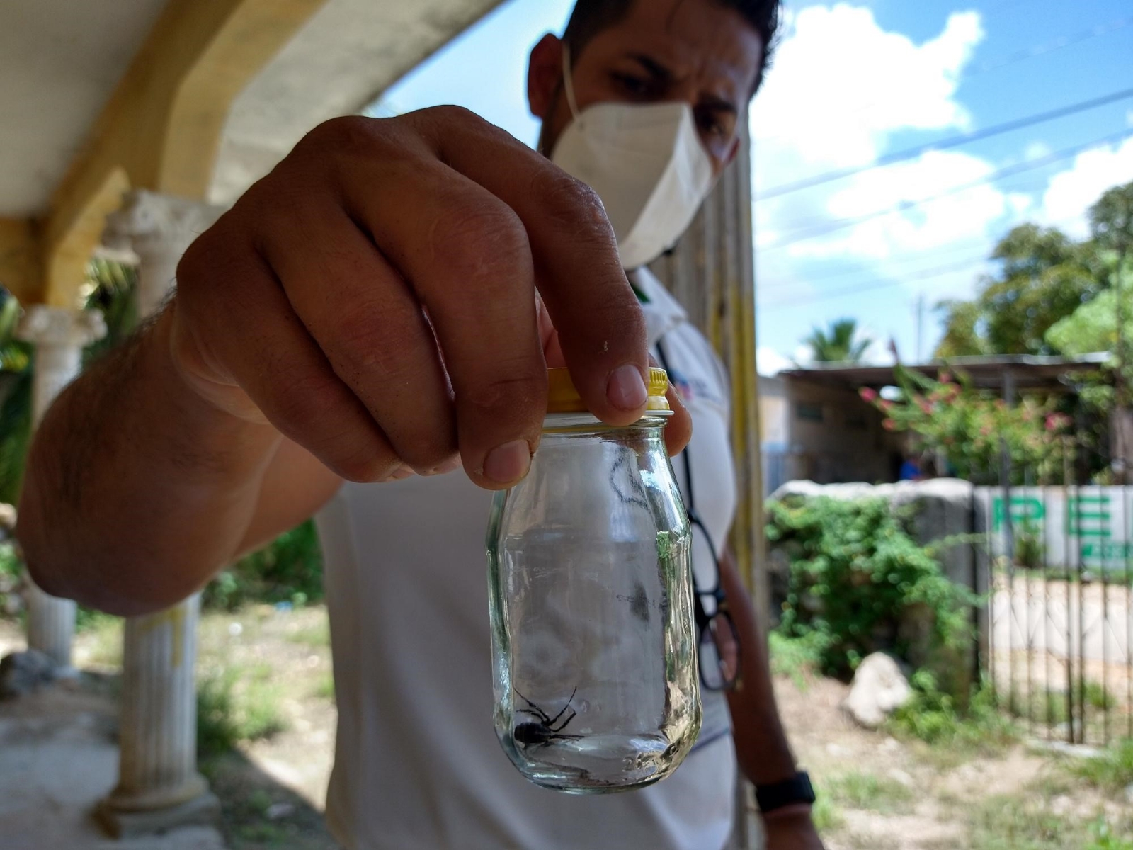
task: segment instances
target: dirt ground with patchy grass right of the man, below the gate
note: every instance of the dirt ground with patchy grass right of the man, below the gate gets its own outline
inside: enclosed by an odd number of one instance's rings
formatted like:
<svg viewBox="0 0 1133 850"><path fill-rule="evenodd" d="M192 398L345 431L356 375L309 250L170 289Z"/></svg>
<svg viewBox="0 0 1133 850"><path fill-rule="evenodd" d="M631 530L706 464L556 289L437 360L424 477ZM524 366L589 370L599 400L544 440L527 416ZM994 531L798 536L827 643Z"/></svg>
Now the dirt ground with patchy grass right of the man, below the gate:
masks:
<svg viewBox="0 0 1133 850"><path fill-rule="evenodd" d="M1015 746L965 756L858 728L847 687L776 681L800 763L824 798L829 850L1093 850L1091 831L1133 841L1133 805L1074 779L1060 756Z"/></svg>

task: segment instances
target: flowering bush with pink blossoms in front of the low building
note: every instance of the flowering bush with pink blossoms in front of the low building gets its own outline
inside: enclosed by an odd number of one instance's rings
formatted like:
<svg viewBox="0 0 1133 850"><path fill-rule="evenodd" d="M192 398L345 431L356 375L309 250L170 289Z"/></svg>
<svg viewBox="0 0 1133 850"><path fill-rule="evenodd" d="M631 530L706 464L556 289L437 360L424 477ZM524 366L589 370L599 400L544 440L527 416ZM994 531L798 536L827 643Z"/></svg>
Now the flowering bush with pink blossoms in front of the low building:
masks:
<svg viewBox="0 0 1133 850"><path fill-rule="evenodd" d="M932 380L898 367L897 380L900 400L883 399L870 389L860 394L885 415L884 428L917 434L922 448L942 453L961 478L998 482L1006 445L1016 481L1024 469L1034 471L1036 483L1062 481L1062 437L1073 423L1055 409L1054 400L1023 398L1008 406L947 371Z"/></svg>

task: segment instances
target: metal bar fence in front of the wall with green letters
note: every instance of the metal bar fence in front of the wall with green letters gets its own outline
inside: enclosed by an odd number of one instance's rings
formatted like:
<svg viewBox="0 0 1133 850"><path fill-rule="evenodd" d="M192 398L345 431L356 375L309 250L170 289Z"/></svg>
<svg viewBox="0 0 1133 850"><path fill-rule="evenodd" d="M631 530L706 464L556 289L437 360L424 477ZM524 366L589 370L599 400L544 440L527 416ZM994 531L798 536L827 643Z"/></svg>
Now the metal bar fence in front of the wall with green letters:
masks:
<svg viewBox="0 0 1133 850"><path fill-rule="evenodd" d="M1133 487L980 487L985 675L1032 734L1133 738Z"/></svg>

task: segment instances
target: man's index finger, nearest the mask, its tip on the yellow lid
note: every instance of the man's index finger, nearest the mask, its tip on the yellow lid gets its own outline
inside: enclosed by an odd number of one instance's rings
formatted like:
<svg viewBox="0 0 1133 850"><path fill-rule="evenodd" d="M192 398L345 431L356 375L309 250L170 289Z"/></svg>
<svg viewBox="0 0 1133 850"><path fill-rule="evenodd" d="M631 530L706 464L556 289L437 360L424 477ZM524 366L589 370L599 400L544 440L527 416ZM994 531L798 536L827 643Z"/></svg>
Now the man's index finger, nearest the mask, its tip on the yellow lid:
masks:
<svg viewBox="0 0 1133 850"><path fill-rule="evenodd" d="M536 286L587 407L613 425L636 422L648 394L645 317L598 196L466 110L418 116L436 155L508 204L522 222Z"/></svg>

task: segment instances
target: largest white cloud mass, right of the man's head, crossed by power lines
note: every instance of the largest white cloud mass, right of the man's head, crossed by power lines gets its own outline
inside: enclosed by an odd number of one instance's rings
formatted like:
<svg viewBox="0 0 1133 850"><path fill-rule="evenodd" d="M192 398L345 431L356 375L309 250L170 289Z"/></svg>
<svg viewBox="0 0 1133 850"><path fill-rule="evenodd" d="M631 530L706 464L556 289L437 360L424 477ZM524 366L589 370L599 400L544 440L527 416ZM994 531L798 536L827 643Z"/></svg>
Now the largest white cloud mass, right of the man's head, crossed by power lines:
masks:
<svg viewBox="0 0 1133 850"><path fill-rule="evenodd" d="M827 170L869 165L894 150L897 134L969 129L971 119L956 90L983 37L982 20L972 11L951 15L938 35L917 43L884 29L868 8L838 2L803 9L752 111L757 196L760 189ZM909 144L908 138L900 144ZM798 300L810 283L807 270L821 261L852 262L861 270L846 282L903 281L911 270L983 256L1002 236L1007 216L1026 207L1025 196L983 185L922 202L995 170L964 152L935 151L757 201L760 281L768 294L790 292ZM905 209L857 224L846 221L898 205ZM973 270L956 271L910 286L930 290L935 300L968 295L974 277ZM846 282L811 288L820 298L824 289L844 291ZM909 291L896 294L904 299ZM772 296L767 305L774 300Z"/></svg>

